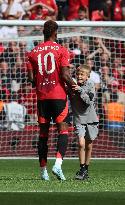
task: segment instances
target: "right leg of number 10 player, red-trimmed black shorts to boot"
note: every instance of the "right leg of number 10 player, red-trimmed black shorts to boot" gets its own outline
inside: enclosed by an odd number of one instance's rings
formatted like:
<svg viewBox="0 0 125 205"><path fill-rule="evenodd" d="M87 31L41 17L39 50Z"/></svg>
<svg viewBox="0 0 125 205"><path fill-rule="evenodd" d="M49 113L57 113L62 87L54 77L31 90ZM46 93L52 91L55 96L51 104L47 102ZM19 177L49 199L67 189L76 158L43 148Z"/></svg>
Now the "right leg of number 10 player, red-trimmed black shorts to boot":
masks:
<svg viewBox="0 0 125 205"><path fill-rule="evenodd" d="M58 128L57 153L56 161L52 172L58 179L65 180L62 172L62 162L66 153L68 145L68 124L66 123L68 117L68 103L67 100L55 101L55 113L53 115L54 121Z"/></svg>

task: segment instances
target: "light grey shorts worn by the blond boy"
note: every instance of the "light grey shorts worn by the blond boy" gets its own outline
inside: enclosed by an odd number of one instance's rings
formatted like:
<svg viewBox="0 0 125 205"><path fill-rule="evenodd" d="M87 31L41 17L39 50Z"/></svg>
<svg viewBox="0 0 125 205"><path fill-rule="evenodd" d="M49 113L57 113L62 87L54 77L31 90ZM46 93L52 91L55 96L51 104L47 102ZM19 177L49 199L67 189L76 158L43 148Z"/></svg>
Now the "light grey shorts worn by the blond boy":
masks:
<svg viewBox="0 0 125 205"><path fill-rule="evenodd" d="M88 140L94 140L98 136L98 124L75 125L75 134Z"/></svg>

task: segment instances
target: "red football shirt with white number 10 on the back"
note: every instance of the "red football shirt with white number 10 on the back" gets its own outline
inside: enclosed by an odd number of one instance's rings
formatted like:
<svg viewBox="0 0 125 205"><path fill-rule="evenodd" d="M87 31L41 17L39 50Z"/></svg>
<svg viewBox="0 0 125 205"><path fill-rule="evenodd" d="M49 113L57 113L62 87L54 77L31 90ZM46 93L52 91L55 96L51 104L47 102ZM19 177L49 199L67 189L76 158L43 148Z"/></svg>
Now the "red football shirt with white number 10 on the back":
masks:
<svg viewBox="0 0 125 205"><path fill-rule="evenodd" d="M37 98L65 99L66 91L61 80L61 68L69 66L68 50L56 42L40 43L28 54L28 69L36 73Z"/></svg>

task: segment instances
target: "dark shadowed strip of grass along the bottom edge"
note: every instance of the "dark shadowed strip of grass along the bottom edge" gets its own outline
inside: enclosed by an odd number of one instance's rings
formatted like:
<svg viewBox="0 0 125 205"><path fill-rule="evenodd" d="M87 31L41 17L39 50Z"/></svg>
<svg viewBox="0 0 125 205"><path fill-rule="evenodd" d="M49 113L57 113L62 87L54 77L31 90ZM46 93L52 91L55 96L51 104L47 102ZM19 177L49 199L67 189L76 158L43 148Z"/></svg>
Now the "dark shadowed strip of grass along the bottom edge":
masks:
<svg viewBox="0 0 125 205"><path fill-rule="evenodd" d="M124 192L0 193L2 205L123 205Z"/></svg>

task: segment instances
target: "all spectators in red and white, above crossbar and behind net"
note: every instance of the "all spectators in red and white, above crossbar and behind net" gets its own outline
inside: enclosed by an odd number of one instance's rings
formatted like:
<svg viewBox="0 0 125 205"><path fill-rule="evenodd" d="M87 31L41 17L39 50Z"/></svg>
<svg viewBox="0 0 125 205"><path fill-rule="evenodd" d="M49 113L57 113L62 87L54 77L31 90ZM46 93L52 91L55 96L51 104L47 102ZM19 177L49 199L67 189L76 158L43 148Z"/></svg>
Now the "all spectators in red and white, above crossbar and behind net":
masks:
<svg viewBox="0 0 125 205"><path fill-rule="evenodd" d="M5 20L66 20L66 21L124 21L124 0L0 0L0 18ZM13 101L25 106L25 121L37 121L35 88L27 82L26 51L36 41L6 41L2 39L40 36L40 26L0 27L0 111L4 104ZM80 64L91 67L90 78L97 90L97 110L100 125L104 124L105 104L116 96L117 107L125 105L125 45L123 41L83 36L60 41L69 48L71 73ZM2 103L3 102L3 103ZM116 104L112 104L112 109ZM108 117L111 121L124 121L124 108L119 106L120 115ZM121 110L120 110L121 109ZM22 113L23 115L23 113ZM108 115L106 115L108 116ZM3 127L3 125L1 126ZM100 126L101 127L101 126Z"/></svg>

